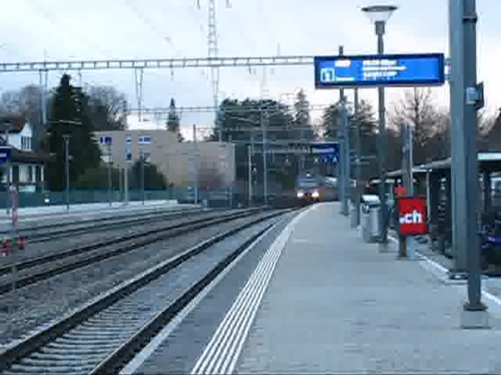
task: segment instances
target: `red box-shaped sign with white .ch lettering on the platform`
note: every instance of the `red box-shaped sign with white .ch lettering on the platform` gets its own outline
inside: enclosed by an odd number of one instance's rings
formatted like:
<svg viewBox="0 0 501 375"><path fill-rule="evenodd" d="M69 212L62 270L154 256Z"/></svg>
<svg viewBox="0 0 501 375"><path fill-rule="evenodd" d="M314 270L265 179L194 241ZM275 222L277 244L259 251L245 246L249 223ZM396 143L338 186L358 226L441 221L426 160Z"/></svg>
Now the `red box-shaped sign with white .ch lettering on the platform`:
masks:
<svg viewBox="0 0 501 375"><path fill-rule="evenodd" d="M398 199L400 234L426 234L426 202L419 198Z"/></svg>

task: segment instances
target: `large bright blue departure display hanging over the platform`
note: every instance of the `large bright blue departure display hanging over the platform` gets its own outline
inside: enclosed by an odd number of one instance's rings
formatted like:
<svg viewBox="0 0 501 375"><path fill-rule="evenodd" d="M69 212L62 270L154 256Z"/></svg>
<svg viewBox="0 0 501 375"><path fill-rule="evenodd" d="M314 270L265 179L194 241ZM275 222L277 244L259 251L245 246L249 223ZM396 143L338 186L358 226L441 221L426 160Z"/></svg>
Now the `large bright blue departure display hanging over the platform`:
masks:
<svg viewBox="0 0 501 375"><path fill-rule="evenodd" d="M315 87L441 85L444 61L443 53L316 56Z"/></svg>

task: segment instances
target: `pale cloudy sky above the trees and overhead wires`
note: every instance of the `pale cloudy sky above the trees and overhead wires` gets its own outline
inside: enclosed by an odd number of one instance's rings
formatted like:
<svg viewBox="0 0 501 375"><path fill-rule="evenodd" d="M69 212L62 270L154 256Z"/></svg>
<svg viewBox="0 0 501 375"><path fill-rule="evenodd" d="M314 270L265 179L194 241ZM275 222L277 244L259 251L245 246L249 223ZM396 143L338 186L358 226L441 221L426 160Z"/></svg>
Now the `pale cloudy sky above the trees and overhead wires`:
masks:
<svg viewBox="0 0 501 375"><path fill-rule="evenodd" d="M204 57L207 55L207 0L0 0L0 62L112 58ZM374 26L360 8L372 0L216 0L220 56L324 55L374 53ZM377 3L388 3L387 0ZM443 52L448 55L448 1L395 0L388 21L385 52ZM477 0L477 74L485 84L488 114L501 107L501 31L499 0ZM49 85L62 72L49 74ZM73 73L76 83L79 77ZM3 73L0 93L39 81L38 73ZM82 71L83 84L114 85L136 107L131 70ZM144 106L212 105L206 69L147 69ZM303 88L310 102L327 104L337 90L315 90L313 66L220 69L220 97L260 97L290 101ZM387 89L386 106L404 94ZM436 105L447 108L449 87L433 88ZM350 98L351 90L347 90ZM361 98L376 103L376 90ZM314 119L320 112L312 113ZM184 135L192 123L210 127L210 114L183 113ZM205 130L201 130L205 131Z"/></svg>

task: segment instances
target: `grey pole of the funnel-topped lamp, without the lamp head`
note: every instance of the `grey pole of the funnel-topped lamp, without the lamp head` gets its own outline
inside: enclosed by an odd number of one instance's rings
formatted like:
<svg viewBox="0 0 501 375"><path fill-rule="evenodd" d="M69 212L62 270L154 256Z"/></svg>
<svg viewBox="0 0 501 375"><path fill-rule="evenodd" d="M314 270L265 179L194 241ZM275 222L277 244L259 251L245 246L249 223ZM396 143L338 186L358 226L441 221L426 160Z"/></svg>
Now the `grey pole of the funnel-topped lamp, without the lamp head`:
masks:
<svg viewBox="0 0 501 375"><path fill-rule="evenodd" d="M376 22L376 35L377 35L377 52L378 54L384 53L384 35L385 23L381 21ZM381 202L381 238L382 250L386 248L388 243L388 209L386 204L386 118L384 106L384 87L378 87L378 108L379 108L379 200Z"/></svg>

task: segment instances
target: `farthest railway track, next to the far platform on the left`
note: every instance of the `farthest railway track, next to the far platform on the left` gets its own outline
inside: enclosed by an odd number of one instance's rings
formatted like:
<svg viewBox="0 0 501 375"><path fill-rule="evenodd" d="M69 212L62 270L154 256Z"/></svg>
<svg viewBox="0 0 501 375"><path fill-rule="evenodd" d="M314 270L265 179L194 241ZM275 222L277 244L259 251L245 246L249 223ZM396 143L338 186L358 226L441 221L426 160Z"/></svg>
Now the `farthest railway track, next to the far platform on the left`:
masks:
<svg viewBox="0 0 501 375"><path fill-rule="evenodd" d="M17 229L16 233L17 235L26 237L28 242L31 243L45 242L76 234L104 231L126 225L140 225L151 220L159 221L167 218L199 214L201 212L203 211L199 208L165 210L160 212L148 211L146 213L136 212L135 214L126 214L117 217L100 217L77 222L59 222L34 227L22 227ZM11 233L11 231L0 231L0 236L9 236Z"/></svg>

